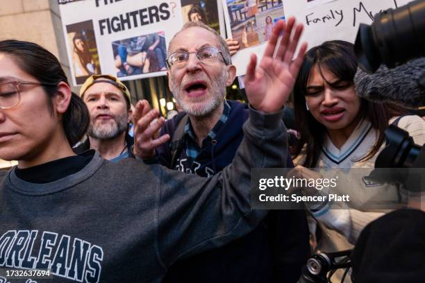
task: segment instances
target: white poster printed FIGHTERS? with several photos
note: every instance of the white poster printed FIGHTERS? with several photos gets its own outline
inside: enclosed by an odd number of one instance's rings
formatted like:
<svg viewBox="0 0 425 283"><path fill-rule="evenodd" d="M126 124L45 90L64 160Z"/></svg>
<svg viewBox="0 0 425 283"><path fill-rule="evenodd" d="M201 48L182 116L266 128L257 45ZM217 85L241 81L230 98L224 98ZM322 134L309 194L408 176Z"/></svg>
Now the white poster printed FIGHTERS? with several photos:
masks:
<svg viewBox="0 0 425 283"><path fill-rule="evenodd" d="M58 3L74 85L91 74L112 74L120 80L165 75L169 41L190 17L224 34L222 9L217 5L221 0Z"/></svg>

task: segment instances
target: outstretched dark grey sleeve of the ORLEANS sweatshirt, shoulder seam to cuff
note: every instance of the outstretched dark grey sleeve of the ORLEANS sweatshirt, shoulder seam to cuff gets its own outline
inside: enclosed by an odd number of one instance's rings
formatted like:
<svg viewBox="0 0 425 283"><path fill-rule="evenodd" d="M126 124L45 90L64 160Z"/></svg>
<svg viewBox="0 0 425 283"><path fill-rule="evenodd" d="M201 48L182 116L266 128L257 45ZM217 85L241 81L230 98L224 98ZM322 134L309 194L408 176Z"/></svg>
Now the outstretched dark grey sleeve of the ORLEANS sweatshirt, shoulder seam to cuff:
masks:
<svg viewBox="0 0 425 283"><path fill-rule="evenodd" d="M233 162L211 178L161 171L158 250L165 266L244 236L267 214L250 205L251 168L285 167L288 135L282 112L250 110Z"/></svg>

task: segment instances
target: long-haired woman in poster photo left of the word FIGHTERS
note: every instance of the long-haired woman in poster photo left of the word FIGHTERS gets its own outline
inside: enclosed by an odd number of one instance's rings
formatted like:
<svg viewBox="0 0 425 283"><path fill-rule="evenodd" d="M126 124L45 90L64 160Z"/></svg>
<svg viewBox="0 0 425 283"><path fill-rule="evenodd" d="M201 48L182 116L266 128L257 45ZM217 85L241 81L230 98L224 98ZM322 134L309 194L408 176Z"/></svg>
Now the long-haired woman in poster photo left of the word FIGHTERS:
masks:
<svg viewBox="0 0 425 283"><path fill-rule="evenodd" d="M72 60L74 62L75 76L90 76L97 74L96 64L88 50L88 44L82 33L75 33L72 38L74 42L74 51L72 52Z"/></svg>

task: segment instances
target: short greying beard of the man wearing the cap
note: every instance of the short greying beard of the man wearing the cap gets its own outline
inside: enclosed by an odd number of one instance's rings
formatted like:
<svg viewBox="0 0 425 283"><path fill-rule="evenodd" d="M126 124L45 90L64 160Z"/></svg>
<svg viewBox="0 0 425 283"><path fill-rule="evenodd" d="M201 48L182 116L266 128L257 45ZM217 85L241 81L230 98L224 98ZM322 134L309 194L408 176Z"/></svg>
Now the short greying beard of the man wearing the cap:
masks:
<svg viewBox="0 0 425 283"><path fill-rule="evenodd" d="M115 116L113 118L113 124L100 124L95 125L96 121L92 121L90 119L90 125L88 128L88 136L92 137L94 139L115 139L119 135L122 134L122 132L127 130L128 127L128 114L122 114Z"/></svg>

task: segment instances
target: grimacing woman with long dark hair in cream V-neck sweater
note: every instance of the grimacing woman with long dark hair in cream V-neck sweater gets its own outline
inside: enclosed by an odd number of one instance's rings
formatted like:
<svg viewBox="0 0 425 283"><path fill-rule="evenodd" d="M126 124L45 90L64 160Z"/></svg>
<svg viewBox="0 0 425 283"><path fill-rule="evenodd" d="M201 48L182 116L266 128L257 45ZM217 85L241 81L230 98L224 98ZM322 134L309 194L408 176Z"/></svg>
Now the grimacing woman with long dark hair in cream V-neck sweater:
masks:
<svg viewBox="0 0 425 283"><path fill-rule="evenodd" d="M351 206L346 209L329 209L326 202L308 206L315 217L310 225L313 240L316 232L322 231L316 248L328 252L352 248L365 225L383 215L349 208L376 200L373 198L379 194L398 196L395 186L374 184L372 194L363 180L350 180L352 168L374 168L385 146L385 128L405 112L357 96L353 85L356 70L353 44L324 42L306 53L294 87L295 119L301 134L294 151L294 164L298 165L294 172L304 178L321 178L305 167L344 169L344 175L338 175L338 188L348 187L351 196ZM425 143L425 122L420 117L403 116L398 126L410 132L417 144ZM359 198L353 194L356 191ZM320 194L315 188L303 192L308 196Z"/></svg>

